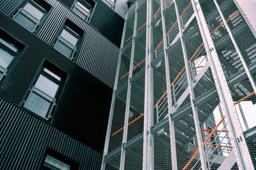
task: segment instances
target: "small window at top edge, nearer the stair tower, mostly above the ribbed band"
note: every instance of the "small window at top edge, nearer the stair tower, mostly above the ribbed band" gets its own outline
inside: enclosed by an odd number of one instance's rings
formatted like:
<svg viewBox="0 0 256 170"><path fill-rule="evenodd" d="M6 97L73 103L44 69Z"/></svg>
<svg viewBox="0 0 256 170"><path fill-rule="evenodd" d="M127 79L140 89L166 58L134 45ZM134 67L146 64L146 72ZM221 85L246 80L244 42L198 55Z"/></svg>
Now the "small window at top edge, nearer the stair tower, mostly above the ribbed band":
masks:
<svg viewBox="0 0 256 170"><path fill-rule="evenodd" d="M89 1L77 1L73 11L74 13L79 15L79 17L88 21L92 13L94 4L95 4L94 2L89 2Z"/></svg>

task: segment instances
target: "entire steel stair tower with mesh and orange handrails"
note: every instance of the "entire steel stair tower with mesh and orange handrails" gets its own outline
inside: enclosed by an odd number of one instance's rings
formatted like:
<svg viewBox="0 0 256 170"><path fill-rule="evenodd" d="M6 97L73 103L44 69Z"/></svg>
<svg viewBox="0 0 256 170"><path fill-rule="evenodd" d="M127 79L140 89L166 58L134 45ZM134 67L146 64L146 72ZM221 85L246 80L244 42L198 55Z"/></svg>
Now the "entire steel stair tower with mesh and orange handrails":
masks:
<svg viewBox="0 0 256 170"><path fill-rule="evenodd" d="M101 169L254 169L256 132L241 106L256 103L252 31L234 0L136 1Z"/></svg>

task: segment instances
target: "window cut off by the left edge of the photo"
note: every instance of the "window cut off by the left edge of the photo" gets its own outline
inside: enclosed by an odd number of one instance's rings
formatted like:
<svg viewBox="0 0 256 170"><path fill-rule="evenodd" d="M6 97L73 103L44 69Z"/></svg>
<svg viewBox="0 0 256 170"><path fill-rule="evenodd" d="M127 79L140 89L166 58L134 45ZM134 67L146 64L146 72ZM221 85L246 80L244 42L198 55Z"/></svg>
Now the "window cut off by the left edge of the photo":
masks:
<svg viewBox="0 0 256 170"><path fill-rule="evenodd" d="M1 35L6 34L0 31ZM3 34L2 34L3 33ZM18 55L19 48L16 41L9 36L0 36L0 80L7 74L13 59Z"/></svg>

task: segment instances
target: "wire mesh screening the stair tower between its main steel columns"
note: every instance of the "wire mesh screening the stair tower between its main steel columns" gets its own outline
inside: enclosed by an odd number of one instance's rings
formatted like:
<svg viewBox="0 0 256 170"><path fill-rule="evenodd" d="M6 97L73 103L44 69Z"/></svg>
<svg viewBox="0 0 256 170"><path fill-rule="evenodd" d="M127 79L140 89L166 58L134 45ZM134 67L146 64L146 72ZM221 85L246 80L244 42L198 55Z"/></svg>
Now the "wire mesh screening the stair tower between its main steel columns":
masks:
<svg viewBox="0 0 256 170"><path fill-rule="evenodd" d="M256 97L252 85L256 78L256 39L232 0L216 0L241 52L240 55L214 1L200 0L199 4L218 53L232 102L236 106L237 127L243 128L250 156L253 158L256 155L256 116L252 116L256 110L254 105ZM233 138L230 131L231 124L223 113L225 108L223 103L220 103L223 98L219 97L220 89L216 88L218 83L216 74L212 69L214 68L212 61L207 56L207 47L203 43L193 5L189 0L176 1L176 3L175 6L173 1L152 1L150 47L154 57L148 66L152 67L153 72L154 115L150 124L151 132L144 129L148 8L145 1L140 1L138 5L127 142L122 143L125 102L130 81L129 66L134 40L132 34L136 18L135 5L129 10L118 90L116 90L118 100L115 104L106 169L119 169L121 148L125 148L124 169L143 169L143 161L145 161L143 150L150 148L152 148L153 169L203 169L202 166L207 169L238 169L239 167L236 163L237 150L234 140L239 142L243 138ZM180 22L176 10L179 10ZM166 32L163 34L164 29ZM168 69L165 59L168 59ZM244 66L248 67L252 81ZM166 80L170 80L170 84L167 84ZM248 111L247 107L251 110ZM143 134L147 134L145 132L152 135L148 148L143 148L145 146ZM255 160L252 161L255 166Z"/></svg>

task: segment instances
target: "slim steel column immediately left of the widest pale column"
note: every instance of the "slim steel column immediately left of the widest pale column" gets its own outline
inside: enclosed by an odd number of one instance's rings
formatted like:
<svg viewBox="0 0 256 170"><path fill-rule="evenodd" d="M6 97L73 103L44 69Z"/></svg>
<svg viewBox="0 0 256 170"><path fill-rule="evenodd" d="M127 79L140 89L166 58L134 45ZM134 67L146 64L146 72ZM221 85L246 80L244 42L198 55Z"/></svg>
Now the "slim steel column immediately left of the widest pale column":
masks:
<svg viewBox="0 0 256 170"><path fill-rule="evenodd" d="M192 108L193 116L194 116L196 139L197 139L197 143L198 143L201 166L202 166L202 169L207 169L205 154L204 154L203 139L202 139L202 134L201 134L201 127L200 127L200 122L199 122L199 118L198 118L198 112L197 112L197 109L196 109L195 103L194 103L195 94L194 94L193 84L192 84L192 80L191 80L191 74L190 74L189 63L188 63L188 55L186 52L186 45L185 45L185 41L183 39L183 31L182 31L182 24L180 22L179 8L178 8L178 4L175 0L173 0L173 3L175 6L177 21L178 21L178 25L179 25L180 42L181 42L181 46L182 46L182 53L183 53L183 57L184 57L185 67L186 67L186 74L187 74L188 88L189 88L189 98L190 98L191 108Z"/></svg>

